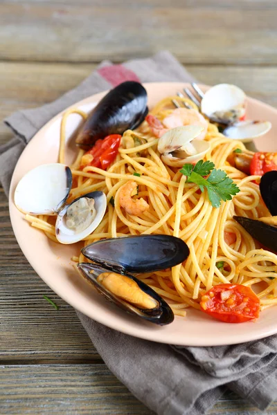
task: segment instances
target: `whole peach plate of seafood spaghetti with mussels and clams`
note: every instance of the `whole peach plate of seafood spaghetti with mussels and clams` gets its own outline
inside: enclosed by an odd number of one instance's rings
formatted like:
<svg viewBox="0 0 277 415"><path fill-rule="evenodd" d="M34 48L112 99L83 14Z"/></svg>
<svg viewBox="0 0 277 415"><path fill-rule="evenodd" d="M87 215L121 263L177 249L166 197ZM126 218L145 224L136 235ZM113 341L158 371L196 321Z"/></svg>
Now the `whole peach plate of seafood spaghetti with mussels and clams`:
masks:
<svg viewBox="0 0 277 415"><path fill-rule="evenodd" d="M198 106L184 87L127 82L55 116L15 168L12 228L39 277L112 329L264 338L277 333L277 110L229 84L199 85Z"/></svg>

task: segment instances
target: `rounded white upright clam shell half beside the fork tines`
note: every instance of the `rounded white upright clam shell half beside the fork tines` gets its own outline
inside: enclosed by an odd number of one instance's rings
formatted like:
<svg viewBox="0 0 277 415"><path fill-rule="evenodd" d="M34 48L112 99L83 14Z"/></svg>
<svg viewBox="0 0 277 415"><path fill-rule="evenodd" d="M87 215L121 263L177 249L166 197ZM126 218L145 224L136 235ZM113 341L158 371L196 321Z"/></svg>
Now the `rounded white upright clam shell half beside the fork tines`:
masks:
<svg viewBox="0 0 277 415"><path fill-rule="evenodd" d="M216 113L220 113L220 118L225 122L234 122L245 113L246 95L242 89L232 84L217 84L205 93L201 101L201 111L208 118L216 118ZM234 113L229 113L229 111ZM226 115L224 115L226 113Z"/></svg>

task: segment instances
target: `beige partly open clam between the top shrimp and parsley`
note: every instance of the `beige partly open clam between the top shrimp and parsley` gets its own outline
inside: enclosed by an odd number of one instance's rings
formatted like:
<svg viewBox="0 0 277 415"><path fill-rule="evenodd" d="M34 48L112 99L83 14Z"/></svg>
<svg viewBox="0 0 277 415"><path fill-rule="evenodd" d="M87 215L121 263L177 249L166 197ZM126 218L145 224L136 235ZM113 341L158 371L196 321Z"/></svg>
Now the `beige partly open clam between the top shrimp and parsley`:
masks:
<svg viewBox="0 0 277 415"><path fill-rule="evenodd" d="M163 163L182 167L185 163L195 163L203 158L211 147L208 141L197 140L203 130L200 125L186 125L164 133L158 142Z"/></svg>

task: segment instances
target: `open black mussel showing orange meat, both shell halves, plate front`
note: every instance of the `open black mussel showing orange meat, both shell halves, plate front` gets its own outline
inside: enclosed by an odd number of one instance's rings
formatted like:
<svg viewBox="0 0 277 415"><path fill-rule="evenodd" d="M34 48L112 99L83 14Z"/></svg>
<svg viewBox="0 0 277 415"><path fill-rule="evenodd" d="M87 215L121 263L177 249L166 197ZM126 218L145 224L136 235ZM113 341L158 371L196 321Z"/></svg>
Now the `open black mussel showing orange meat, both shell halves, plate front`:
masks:
<svg viewBox="0 0 277 415"><path fill-rule="evenodd" d="M127 313L164 325L174 320L170 306L132 274L171 268L189 255L184 241L169 235L102 239L82 248L93 264L78 264L80 274Z"/></svg>

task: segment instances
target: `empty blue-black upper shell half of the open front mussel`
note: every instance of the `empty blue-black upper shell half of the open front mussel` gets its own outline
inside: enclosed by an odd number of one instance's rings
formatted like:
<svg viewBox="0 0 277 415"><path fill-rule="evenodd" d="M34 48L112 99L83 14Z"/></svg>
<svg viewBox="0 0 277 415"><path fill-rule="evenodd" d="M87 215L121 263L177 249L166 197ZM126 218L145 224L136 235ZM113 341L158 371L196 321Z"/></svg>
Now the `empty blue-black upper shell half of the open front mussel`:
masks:
<svg viewBox="0 0 277 415"><path fill-rule="evenodd" d="M91 261L117 273L151 273L185 261L190 251L180 238L139 235L102 239L82 248Z"/></svg>

